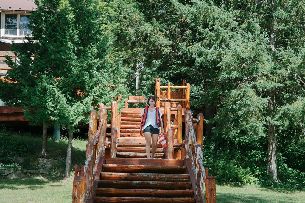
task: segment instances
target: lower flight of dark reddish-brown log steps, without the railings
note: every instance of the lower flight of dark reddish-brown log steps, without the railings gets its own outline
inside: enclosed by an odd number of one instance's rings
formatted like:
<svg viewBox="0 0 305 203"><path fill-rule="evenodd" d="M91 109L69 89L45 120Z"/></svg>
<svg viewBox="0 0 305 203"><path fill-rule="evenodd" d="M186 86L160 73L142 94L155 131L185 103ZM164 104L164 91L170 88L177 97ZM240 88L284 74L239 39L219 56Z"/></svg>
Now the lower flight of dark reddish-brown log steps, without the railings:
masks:
<svg viewBox="0 0 305 203"><path fill-rule="evenodd" d="M195 202L184 160L106 158L93 202Z"/></svg>

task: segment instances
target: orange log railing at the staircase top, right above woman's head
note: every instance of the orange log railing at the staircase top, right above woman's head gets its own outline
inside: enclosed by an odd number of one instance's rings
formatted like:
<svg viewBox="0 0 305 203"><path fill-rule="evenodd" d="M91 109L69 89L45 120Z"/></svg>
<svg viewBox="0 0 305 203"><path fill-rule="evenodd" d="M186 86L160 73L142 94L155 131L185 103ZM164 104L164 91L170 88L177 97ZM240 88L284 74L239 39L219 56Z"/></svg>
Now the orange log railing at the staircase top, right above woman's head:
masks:
<svg viewBox="0 0 305 203"><path fill-rule="evenodd" d="M167 89L167 98L160 98L161 89ZM181 89L181 99L171 99L171 89ZM156 79L156 106L161 107L160 102L182 102L182 107L190 109L190 83L185 85L183 80L182 86L172 86L167 83L167 86L160 86L160 78Z"/></svg>

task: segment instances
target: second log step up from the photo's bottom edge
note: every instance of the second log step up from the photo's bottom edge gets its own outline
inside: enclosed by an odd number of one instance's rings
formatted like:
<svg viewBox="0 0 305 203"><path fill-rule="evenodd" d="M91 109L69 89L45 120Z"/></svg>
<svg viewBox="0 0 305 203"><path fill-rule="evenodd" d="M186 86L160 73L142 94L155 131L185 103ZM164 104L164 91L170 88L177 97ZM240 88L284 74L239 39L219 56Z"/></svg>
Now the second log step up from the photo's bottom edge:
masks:
<svg viewBox="0 0 305 203"><path fill-rule="evenodd" d="M96 196L106 197L171 197L171 198L192 198L192 190L149 190L149 189L112 189L97 188Z"/></svg>

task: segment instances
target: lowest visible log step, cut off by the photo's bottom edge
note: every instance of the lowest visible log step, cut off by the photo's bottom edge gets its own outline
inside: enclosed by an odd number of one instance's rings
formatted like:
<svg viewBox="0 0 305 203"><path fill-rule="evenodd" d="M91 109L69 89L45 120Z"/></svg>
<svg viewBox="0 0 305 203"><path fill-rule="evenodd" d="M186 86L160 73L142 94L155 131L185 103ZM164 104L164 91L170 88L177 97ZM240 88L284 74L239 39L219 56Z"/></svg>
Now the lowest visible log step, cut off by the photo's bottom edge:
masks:
<svg viewBox="0 0 305 203"><path fill-rule="evenodd" d="M149 197L94 197L94 202L195 202L193 198L149 198Z"/></svg>

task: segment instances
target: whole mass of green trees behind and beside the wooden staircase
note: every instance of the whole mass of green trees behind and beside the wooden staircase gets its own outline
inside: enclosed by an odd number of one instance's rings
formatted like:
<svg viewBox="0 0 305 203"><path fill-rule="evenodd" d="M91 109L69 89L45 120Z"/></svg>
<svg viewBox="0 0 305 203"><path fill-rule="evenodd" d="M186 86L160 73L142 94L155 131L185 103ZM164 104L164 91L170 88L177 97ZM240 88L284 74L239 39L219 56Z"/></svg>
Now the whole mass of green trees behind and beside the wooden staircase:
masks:
<svg viewBox="0 0 305 203"><path fill-rule="evenodd" d="M191 110L204 107L204 165L219 183L305 188L305 1L36 3L34 37L9 62L21 85L0 82L32 124L62 125L71 145L97 104L154 95L156 77L185 79L199 97Z"/></svg>

